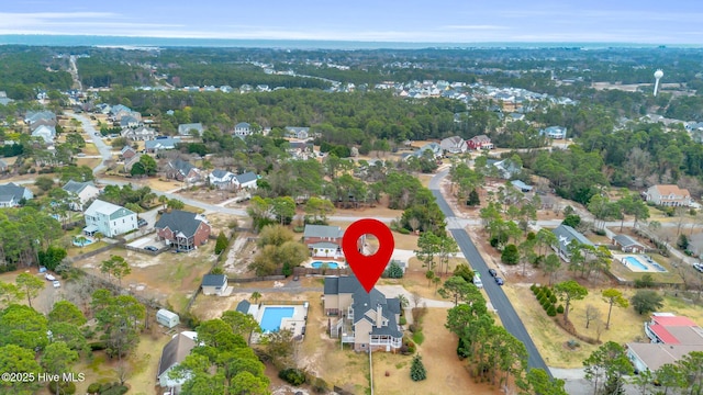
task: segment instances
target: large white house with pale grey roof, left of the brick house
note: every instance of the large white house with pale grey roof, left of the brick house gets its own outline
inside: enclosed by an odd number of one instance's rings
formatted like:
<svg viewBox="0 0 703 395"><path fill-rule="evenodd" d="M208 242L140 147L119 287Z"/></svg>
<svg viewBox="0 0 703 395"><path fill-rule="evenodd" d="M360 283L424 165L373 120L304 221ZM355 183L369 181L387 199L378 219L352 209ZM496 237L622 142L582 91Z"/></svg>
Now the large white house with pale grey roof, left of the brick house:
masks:
<svg viewBox="0 0 703 395"><path fill-rule="evenodd" d="M101 200L92 202L85 216L83 233L89 236L100 232L107 237L114 237L138 228L135 212Z"/></svg>

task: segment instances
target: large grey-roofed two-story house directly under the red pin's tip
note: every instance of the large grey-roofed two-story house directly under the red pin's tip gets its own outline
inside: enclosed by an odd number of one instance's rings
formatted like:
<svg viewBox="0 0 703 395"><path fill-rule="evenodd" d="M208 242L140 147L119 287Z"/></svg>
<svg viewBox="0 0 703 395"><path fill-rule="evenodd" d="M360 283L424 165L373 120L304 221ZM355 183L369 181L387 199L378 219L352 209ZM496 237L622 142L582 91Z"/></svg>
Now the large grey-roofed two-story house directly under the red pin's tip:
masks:
<svg viewBox="0 0 703 395"><path fill-rule="evenodd" d="M400 301L377 289L367 293L355 276L325 278L324 311L339 317L330 336L342 338L355 351L395 351L403 343Z"/></svg>

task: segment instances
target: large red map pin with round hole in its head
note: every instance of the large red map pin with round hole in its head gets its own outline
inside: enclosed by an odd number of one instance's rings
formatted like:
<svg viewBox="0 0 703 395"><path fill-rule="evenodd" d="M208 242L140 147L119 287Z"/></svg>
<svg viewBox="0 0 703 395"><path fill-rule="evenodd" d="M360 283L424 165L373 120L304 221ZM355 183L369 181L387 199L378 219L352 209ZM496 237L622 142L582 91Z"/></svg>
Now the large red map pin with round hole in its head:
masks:
<svg viewBox="0 0 703 395"><path fill-rule="evenodd" d="M378 239L378 251L372 256L365 256L359 250L359 237L373 235ZM373 285L383 273L386 266L393 255L395 241L388 225L377 219L359 219L347 228L342 238L342 250L349 263L349 268L361 283L367 293L371 292Z"/></svg>

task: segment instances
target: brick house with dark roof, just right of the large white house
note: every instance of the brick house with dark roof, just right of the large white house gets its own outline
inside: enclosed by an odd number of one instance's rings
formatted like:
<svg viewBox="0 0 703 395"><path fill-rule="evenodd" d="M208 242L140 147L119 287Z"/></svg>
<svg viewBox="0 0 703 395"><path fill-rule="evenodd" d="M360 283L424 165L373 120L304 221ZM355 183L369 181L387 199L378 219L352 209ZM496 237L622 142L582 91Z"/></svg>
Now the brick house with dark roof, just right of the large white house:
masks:
<svg viewBox="0 0 703 395"><path fill-rule="evenodd" d="M202 215L180 210L164 213L154 228L159 240L179 251L190 251L204 245L212 230Z"/></svg>

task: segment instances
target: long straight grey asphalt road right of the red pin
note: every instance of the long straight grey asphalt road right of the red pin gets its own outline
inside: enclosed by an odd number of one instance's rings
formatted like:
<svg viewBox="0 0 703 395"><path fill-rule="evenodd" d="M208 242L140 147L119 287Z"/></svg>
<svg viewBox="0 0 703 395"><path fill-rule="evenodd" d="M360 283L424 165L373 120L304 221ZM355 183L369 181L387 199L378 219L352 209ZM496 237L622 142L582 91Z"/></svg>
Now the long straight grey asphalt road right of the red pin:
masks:
<svg viewBox="0 0 703 395"><path fill-rule="evenodd" d="M503 327L507 329L507 331L513 336L515 336L517 340L522 341L523 345L525 345L528 354L527 364L529 365L529 368L544 369L545 372L547 372L547 374L551 376L551 371L549 370L549 368L547 368L547 364L542 359L537 347L535 347L535 343L532 341L529 334L527 334L527 329L525 329L523 321L520 319L520 316L515 312L513 305L510 303L510 300L507 298L507 296L505 296L503 289L500 285L495 284L495 281L492 281L492 278L488 273L488 266L486 264L486 261L483 260L479 251L476 249L476 245L473 245L473 241L471 241L471 238L462 227L453 225L453 223L456 224L454 211L451 210L447 201L444 200L444 196L439 191L439 182L447 174L447 172L448 170L437 173L437 176L435 176L429 182L429 189L435 195L439 208L447 217L447 225L449 232L451 233L451 236L454 236L454 239L457 240L459 249L461 250L461 252L464 252L464 256L468 260L471 268L476 272L480 273L481 278L483 279L483 289L486 290L486 293L488 294L493 308L498 311L498 315L503 323Z"/></svg>

